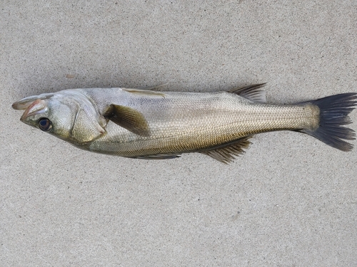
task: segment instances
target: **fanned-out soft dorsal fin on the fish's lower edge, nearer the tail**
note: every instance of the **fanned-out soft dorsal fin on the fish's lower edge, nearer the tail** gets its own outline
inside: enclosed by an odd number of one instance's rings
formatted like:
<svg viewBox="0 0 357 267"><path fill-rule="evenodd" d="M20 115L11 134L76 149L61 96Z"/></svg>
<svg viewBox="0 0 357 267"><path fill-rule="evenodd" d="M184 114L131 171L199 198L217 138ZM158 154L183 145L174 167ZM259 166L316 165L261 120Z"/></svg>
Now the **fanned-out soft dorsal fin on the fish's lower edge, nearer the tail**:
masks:
<svg viewBox="0 0 357 267"><path fill-rule="evenodd" d="M233 142L233 144L218 147L213 150L208 150L201 153L213 157L213 159L216 159L219 162L228 164L233 162L233 160L236 158L234 156L238 156L245 152L243 148L248 148L249 144L251 144L251 142L248 141L248 139L251 137L251 135L243 137L238 139L236 142Z"/></svg>

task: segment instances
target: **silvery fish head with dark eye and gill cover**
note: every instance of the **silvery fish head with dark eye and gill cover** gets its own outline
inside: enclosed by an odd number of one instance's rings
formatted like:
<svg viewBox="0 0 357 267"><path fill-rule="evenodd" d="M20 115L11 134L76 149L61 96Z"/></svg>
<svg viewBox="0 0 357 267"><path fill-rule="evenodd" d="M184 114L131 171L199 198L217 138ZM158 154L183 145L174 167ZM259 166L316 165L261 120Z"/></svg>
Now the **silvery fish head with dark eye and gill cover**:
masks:
<svg viewBox="0 0 357 267"><path fill-rule="evenodd" d="M21 122L74 145L87 145L106 133L106 120L94 103L77 90L63 90L31 96L15 102L15 110L25 110Z"/></svg>

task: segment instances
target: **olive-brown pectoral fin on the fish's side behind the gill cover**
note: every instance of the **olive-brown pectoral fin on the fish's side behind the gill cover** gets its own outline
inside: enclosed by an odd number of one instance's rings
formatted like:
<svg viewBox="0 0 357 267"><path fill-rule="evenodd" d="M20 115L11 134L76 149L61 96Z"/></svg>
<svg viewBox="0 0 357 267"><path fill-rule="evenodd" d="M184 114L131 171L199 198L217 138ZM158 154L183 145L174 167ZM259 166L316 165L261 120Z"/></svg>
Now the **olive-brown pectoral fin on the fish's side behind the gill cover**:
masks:
<svg viewBox="0 0 357 267"><path fill-rule="evenodd" d="M141 112L124 105L109 105L104 117L136 135L149 136L148 122Z"/></svg>

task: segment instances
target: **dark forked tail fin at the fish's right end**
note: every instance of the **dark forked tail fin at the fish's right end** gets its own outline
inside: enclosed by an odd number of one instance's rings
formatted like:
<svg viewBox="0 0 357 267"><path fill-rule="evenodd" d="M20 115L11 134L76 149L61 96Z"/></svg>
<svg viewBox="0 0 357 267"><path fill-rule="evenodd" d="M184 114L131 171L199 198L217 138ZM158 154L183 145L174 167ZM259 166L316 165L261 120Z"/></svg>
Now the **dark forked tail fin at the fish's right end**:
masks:
<svg viewBox="0 0 357 267"><path fill-rule="evenodd" d="M309 101L320 108L320 123L316 130L301 130L318 140L335 147L338 150L350 151L353 145L344 140L354 140L355 133L348 127L351 119L348 114L357 103L357 93L343 93L331 95L326 98ZM344 139L344 140L343 140Z"/></svg>

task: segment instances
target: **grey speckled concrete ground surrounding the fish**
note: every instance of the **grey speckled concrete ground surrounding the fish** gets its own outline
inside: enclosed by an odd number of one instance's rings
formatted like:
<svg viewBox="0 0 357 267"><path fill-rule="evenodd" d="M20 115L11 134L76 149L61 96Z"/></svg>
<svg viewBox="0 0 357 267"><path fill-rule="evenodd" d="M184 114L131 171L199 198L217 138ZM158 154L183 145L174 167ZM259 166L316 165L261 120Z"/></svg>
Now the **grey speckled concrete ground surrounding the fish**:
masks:
<svg viewBox="0 0 357 267"><path fill-rule="evenodd" d="M2 0L0 265L357 266L356 149L271 132L229 165L125 159L11 109L66 88L164 83L267 82L271 103L356 92L356 1L296 2Z"/></svg>

